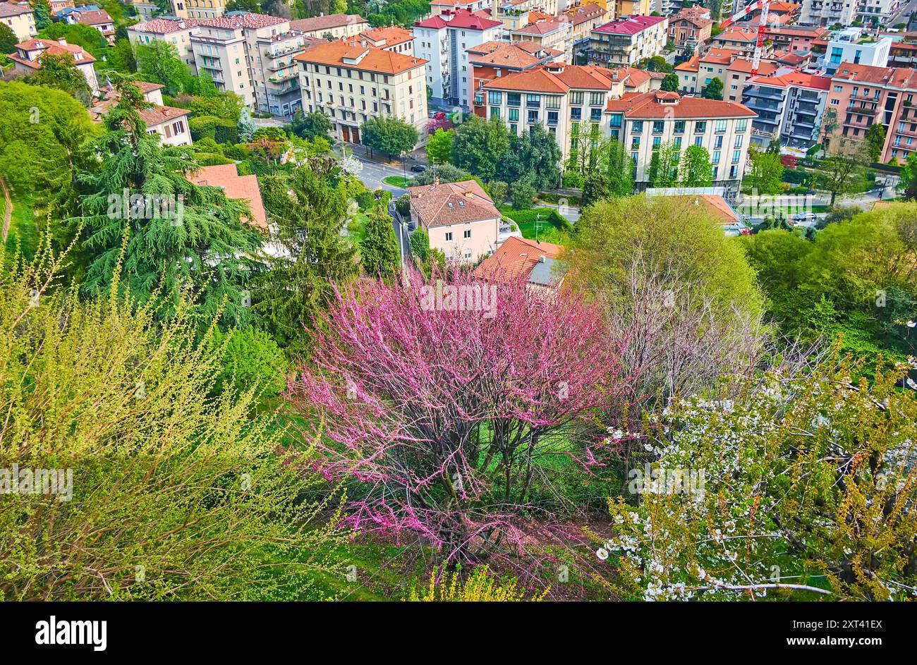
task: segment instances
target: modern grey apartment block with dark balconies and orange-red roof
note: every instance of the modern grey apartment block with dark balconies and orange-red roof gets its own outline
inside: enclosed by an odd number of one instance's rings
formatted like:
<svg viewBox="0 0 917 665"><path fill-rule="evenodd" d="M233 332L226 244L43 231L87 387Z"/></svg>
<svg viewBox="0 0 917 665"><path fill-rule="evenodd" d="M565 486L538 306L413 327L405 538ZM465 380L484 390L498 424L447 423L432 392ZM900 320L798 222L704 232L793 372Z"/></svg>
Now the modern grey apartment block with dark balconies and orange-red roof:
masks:
<svg viewBox="0 0 917 665"><path fill-rule="evenodd" d="M780 69L748 81L742 103L757 114L752 141L767 146L779 139L787 148L809 150L819 142L831 79Z"/></svg>

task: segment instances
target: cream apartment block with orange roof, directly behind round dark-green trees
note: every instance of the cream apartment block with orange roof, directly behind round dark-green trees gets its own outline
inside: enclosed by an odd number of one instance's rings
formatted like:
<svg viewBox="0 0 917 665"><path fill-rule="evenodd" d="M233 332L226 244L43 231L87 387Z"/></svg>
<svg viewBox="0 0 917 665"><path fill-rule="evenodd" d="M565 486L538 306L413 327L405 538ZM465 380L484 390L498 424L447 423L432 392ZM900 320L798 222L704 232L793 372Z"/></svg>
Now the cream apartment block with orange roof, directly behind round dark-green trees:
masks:
<svg viewBox="0 0 917 665"><path fill-rule="evenodd" d="M566 161L580 134L593 124L602 126L616 83L612 70L602 67L541 65L484 83L487 116L503 119L514 134L541 123Z"/></svg>

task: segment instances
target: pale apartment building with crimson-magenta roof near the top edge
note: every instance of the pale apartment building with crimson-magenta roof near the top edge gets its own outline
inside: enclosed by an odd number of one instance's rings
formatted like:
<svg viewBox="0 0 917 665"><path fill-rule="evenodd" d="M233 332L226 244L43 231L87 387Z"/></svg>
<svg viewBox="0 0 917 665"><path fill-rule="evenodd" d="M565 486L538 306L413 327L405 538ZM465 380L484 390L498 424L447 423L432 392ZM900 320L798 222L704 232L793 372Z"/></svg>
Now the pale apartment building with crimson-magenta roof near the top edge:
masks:
<svg viewBox="0 0 917 665"><path fill-rule="evenodd" d="M658 55L668 39L668 17L626 17L593 28L589 63L630 67Z"/></svg>

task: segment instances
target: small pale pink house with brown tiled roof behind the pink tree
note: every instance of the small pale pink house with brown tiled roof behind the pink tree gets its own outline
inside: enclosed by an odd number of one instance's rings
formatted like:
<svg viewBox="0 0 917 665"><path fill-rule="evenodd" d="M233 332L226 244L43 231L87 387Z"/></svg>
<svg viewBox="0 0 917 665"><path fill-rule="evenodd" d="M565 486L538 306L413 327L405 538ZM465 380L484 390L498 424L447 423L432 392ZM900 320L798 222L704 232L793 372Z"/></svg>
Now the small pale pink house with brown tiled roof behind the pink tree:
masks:
<svg viewBox="0 0 917 665"><path fill-rule="evenodd" d="M497 249L501 213L481 185L438 181L408 187L411 219L430 238L446 260L473 263Z"/></svg>

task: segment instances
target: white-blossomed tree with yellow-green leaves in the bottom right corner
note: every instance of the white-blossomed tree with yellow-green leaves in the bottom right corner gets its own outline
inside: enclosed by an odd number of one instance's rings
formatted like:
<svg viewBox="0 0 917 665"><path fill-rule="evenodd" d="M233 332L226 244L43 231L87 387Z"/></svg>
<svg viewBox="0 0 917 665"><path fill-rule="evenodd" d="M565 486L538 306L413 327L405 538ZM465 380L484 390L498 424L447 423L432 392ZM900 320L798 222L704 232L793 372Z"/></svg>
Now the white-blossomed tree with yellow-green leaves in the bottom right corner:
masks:
<svg viewBox="0 0 917 665"><path fill-rule="evenodd" d="M917 400L905 367L773 371L651 423L597 556L646 600L917 595ZM732 393L732 392L731 392ZM620 438L620 433L613 438ZM648 474L648 477L647 477Z"/></svg>

